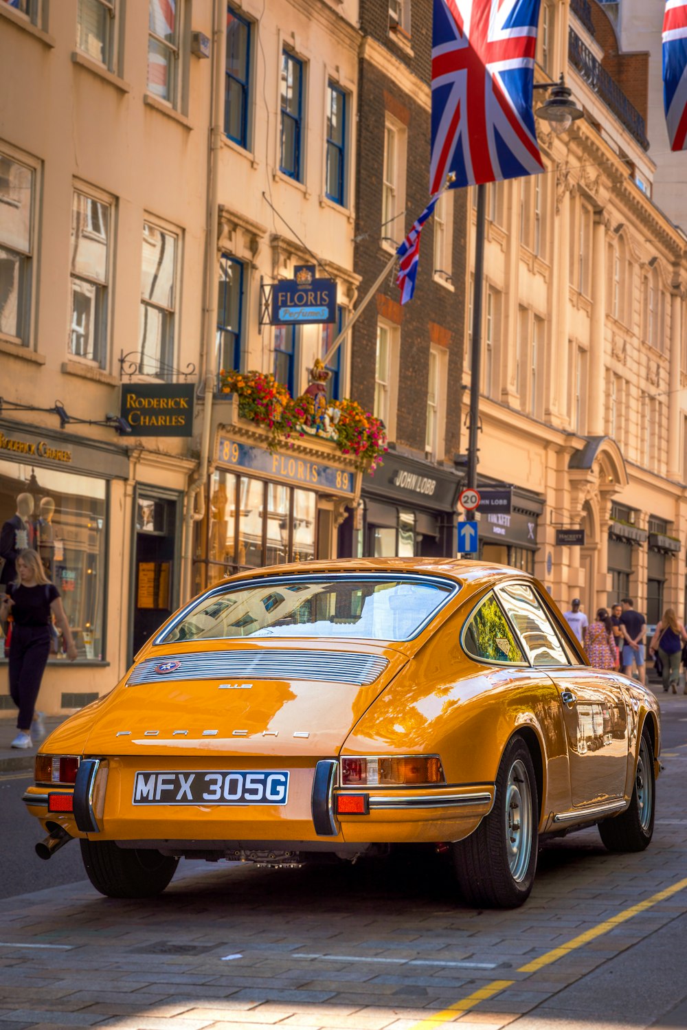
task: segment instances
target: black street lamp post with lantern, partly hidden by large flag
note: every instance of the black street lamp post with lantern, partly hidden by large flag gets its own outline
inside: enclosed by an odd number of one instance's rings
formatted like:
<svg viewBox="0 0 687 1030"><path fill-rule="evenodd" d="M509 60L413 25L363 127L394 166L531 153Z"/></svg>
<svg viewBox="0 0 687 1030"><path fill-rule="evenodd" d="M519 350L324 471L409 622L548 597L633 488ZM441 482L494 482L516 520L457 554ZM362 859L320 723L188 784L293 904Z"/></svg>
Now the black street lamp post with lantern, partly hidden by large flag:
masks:
<svg viewBox="0 0 687 1030"><path fill-rule="evenodd" d="M571 90L565 85L562 72L557 82L536 82L535 90L550 90L551 95L538 107L535 113L548 122L551 131L556 136L570 129L573 122L581 118L582 108L578 107L571 96ZM473 336L470 348L470 415L468 420L468 468L466 486L477 489L477 465L479 447L479 403L480 379L482 372L482 293L484 284L484 230L486 225L486 184L480 182L477 186L477 226L475 230L475 280L473 294ZM477 517L476 511L466 514L468 522ZM470 552L471 554L473 552Z"/></svg>

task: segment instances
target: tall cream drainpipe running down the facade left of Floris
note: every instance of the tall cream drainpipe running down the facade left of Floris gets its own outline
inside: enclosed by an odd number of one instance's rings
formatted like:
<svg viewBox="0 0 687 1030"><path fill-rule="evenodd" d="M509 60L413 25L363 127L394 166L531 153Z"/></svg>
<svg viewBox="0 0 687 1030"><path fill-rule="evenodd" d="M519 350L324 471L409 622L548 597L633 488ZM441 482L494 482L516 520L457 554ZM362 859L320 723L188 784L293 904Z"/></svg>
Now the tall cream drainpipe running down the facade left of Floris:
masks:
<svg viewBox="0 0 687 1030"><path fill-rule="evenodd" d="M183 526L183 554L181 558L181 594L185 603L193 591L194 525L205 517L205 489L210 456L212 430L212 400L215 374L214 351L217 325L217 226L219 208L219 153L221 151L221 100L225 94L225 65L221 56L226 46L226 4L224 0L212 3L212 68L210 95L210 135L207 173L207 217L205 250L205 298L203 304L203 331L201 337L200 366L203 374L203 425L198 475L188 487ZM196 499L198 497L198 507Z"/></svg>

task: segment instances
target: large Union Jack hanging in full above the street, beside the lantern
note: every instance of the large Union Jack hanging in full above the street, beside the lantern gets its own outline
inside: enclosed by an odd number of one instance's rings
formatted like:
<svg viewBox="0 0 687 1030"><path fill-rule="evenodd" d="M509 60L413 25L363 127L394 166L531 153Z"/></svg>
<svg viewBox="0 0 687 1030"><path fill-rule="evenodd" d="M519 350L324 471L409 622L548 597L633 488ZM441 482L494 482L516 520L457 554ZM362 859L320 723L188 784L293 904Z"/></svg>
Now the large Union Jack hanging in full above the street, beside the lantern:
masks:
<svg viewBox="0 0 687 1030"><path fill-rule="evenodd" d="M543 171L531 110L540 0L434 0L431 193Z"/></svg>

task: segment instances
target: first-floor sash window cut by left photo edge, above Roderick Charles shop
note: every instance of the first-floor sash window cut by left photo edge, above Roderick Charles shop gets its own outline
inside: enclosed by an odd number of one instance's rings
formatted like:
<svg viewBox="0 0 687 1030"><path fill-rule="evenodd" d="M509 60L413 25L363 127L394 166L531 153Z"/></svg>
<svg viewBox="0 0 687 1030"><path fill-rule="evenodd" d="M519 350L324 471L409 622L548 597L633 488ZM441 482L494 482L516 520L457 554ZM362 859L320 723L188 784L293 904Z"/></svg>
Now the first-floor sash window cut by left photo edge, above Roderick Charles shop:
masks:
<svg viewBox="0 0 687 1030"><path fill-rule="evenodd" d="M0 152L0 333L29 345L35 172Z"/></svg>

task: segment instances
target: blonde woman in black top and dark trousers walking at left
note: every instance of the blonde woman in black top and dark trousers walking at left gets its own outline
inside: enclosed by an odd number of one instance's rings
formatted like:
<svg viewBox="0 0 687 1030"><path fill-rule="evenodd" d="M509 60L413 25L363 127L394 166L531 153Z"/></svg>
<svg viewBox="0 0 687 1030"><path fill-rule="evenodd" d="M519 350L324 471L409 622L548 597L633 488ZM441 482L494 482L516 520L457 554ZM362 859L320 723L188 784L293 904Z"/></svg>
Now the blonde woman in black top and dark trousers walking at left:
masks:
<svg viewBox="0 0 687 1030"><path fill-rule="evenodd" d="M0 618L11 618L9 641L9 692L19 709L16 736L12 748L33 746L44 735L42 718L36 713L40 681L50 652L53 617L62 630L67 657L76 658L71 629L62 607L60 591L50 583L36 551L21 551L16 558L16 579L7 585L0 604Z"/></svg>

